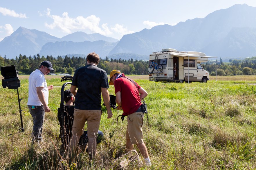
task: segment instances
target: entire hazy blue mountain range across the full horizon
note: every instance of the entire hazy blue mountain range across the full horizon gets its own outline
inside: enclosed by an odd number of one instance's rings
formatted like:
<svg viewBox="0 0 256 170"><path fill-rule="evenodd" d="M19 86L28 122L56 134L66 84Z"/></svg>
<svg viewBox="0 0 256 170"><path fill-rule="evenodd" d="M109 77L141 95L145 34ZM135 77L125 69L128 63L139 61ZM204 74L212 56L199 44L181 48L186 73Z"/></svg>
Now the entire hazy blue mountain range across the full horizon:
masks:
<svg viewBox="0 0 256 170"><path fill-rule="evenodd" d="M256 56L256 8L233 5L208 14L205 18L189 19L174 26L158 25L152 29L124 35L120 41L100 34L75 32L57 38L35 29L19 27L0 42L0 55L15 58L26 56L73 54L86 55L95 51L101 58L147 60L152 52L164 48L178 51L200 51L223 59Z"/></svg>

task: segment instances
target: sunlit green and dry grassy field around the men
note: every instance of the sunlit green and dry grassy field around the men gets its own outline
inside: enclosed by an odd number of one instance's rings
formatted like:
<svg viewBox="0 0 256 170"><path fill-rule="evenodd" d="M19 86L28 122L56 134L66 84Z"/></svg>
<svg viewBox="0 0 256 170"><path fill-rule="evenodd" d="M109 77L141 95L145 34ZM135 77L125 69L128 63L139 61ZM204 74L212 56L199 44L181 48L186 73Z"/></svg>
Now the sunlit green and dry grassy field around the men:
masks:
<svg viewBox="0 0 256 170"><path fill-rule="evenodd" d="M113 160L125 153L126 121L103 114L100 130L104 133L97 146L92 166L86 152L72 162L62 158L57 108L60 105L60 78L47 77L53 84L49 97L41 147L31 145L32 117L27 108L28 79L21 76L19 96L23 110L24 132L20 132L17 91L0 88L0 168L1 169L115 169ZM132 77L136 80L136 76ZM256 77L211 77L207 83L136 81L149 95L148 124L143 124L151 167L140 169L256 169L255 111ZM142 78L142 79L141 79ZM226 81L225 81L225 80ZM69 88L67 86L66 88ZM114 87L110 86L110 94ZM135 147L135 149L137 149ZM138 149L137 149L138 151ZM138 169L130 165L130 169Z"/></svg>

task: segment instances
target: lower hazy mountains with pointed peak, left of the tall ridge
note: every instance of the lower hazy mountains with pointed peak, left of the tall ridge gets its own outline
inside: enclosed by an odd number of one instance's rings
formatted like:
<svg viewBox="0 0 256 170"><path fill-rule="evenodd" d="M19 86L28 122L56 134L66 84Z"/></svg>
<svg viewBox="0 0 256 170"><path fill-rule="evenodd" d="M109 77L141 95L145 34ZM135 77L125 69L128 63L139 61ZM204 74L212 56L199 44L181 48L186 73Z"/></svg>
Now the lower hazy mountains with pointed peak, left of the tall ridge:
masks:
<svg viewBox="0 0 256 170"><path fill-rule="evenodd" d="M86 38L90 41L85 41L84 39ZM68 41L62 41L64 39ZM109 40L111 42L101 39ZM62 38L57 38L36 29L19 27L10 36L5 37L0 42L0 55L6 55L7 58L15 58L15 56L19 56L19 54L33 56L39 53L44 56L52 55L57 57L72 53L87 54L97 50L99 51L99 55L105 57L117 42L118 40L115 38L106 37L100 34L75 32Z"/></svg>

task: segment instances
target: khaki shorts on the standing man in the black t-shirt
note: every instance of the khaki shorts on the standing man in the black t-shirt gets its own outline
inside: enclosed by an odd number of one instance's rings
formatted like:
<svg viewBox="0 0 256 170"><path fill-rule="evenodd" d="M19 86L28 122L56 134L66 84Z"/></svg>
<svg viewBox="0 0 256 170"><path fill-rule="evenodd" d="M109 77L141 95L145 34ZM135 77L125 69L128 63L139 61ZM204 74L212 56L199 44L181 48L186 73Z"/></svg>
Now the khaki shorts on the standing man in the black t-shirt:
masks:
<svg viewBox="0 0 256 170"><path fill-rule="evenodd" d="M81 136L84 133L84 124L87 121L88 138L95 138L100 126L101 110L74 109L72 133Z"/></svg>

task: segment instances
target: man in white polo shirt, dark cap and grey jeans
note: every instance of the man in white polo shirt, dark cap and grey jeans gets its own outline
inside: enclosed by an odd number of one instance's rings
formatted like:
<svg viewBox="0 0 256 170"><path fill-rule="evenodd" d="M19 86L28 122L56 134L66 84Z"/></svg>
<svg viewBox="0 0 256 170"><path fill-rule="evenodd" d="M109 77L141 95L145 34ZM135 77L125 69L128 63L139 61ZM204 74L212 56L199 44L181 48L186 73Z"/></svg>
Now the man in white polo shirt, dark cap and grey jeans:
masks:
<svg viewBox="0 0 256 170"><path fill-rule="evenodd" d="M33 71L28 78L28 108L33 117L33 138L32 142L42 142L42 128L45 112L50 112L48 106L49 91L53 85L47 87L44 75L53 70L53 65L49 61L43 61L39 68Z"/></svg>

